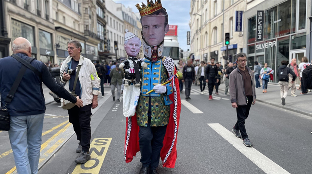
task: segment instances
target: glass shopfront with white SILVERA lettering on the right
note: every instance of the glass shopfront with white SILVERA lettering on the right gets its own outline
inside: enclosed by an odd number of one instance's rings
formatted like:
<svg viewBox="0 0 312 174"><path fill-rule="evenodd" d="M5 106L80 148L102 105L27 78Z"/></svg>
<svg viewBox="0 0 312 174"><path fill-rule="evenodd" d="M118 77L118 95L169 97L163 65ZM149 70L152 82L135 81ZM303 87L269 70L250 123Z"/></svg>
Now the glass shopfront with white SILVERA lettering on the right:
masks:
<svg viewBox="0 0 312 174"><path fill-rule="evenodd" d="M301 16L301 17L300 17ZM276 70L282 60L291 61L305 56L306 47L306 1L285 1L275 7L265 10L264 41L256 41L256 16L248 19L247 34L247 66L253 69L257 61L263 67L274 70L274 80L277 83Z"/></svg>

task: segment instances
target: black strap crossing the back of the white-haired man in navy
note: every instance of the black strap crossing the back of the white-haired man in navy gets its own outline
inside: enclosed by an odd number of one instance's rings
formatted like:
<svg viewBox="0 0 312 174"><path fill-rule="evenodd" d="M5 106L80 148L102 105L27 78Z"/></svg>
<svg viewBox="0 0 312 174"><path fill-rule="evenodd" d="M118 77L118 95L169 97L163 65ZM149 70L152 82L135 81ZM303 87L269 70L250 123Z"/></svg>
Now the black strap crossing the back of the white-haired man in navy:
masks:
<svg viewBox="0 0 312 174"><path fill-rule="evenodd" d="M15 59L17 59L19 62L21 62L21 61L19 60L19 59L21 59L21 60L22 60L21 63L22 63L23 65L22 65L21 70L18 72L17 77L15 78L15 81L14 81L14 83L13 83L11 89L10 89L9 94L7 94L7 97L5 98L5 103L6 103L6 105L11 103L11 101L12 101L12 99L13 99L13 97L14 97L14 94L15 94L15 92L16 92L16 90L17 90L19 84L21 83L22 78L23 78L23 76L24 76L24 74L25 74L25 72L26 72L26 70L27 70L27 68L28 68L27 64L30 65L30 62L32 62L32 61L35 59L35 58L33 58L33 57L29 57L29 59L28 59L27 61L25 61L24 59L22 59L21 57L17 56L16 54L13 54L12 57L14 57ZM16 58L16 57L18 57L18 58ZM25 64L26 64L26 65L25 65ZM30 65L30 66L32 66L32 65ZM32 66L32 67L33 67L33 66ZM35 68L35 67L33 67L33 68ZM31 69L31 68L30 68L30 69ZM36 69L36 70L37 70L37 69ZM37 71L38 71L38 70L37 70ZM38 72L39 72L39 71L38 71ZM39 75L40 75L40 72L39 72Z"/></svg>

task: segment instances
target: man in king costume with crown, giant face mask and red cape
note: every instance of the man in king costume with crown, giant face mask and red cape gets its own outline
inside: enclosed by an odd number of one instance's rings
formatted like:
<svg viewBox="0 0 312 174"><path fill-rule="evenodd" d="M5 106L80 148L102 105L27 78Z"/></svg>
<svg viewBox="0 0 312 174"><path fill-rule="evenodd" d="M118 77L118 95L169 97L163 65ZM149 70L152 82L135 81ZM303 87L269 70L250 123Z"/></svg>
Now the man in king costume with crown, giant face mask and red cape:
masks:
<svg viewBox="0 0 312 174"><path fill-rule="evenodd" d="M142 3L143 4L143 3ZM168 14L160 0L147 6L136 5L141 15L144 57L147 64L141 71L141 94L136 114L127 118L125 162L141 152L139 174L158 174L159 157L163 167L173 168L177 158L177 135L181 100L177 71L173 59L162 56L165 34L169 31ZM167 85L160 85L173 79ZM148 93L154 89L153 92Z"/></svg>

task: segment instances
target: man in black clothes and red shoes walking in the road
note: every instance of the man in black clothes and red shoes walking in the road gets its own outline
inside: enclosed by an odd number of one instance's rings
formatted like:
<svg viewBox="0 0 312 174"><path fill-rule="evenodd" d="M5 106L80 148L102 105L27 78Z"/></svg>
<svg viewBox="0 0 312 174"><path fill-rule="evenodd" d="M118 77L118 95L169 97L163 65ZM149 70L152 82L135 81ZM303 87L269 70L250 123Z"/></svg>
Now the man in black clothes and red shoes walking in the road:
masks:
<svg viewBox="0 0 312 174"><path fill-rule="evenodd" d="M206 66L205 74L206 74L206 83L208 83L209 89L209 100L212 100L212 91L213 87L219 82L217 79L218 76L218 67L214 64L215 58L210 59L210 63Z"/></svg>

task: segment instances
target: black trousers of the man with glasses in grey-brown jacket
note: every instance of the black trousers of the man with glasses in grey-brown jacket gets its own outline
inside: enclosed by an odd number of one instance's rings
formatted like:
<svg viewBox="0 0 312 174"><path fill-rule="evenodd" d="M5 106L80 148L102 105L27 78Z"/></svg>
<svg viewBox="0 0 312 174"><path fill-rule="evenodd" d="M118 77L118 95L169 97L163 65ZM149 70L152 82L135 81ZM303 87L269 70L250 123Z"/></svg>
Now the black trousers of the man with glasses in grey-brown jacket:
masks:
<svg viewBox="0 0 312 174"><path fill-rule="evenodd" d="M252 96L247 97L248 103L245 106L237 106L236 108L236 114L237 114L237 122L235 124L234 129L241 131L241 138L244 140L245 138L248 138L248 135L246 133L245 129L245 120L249 115L249 110L252 104Z"/></svg>

